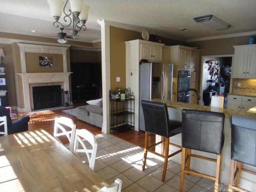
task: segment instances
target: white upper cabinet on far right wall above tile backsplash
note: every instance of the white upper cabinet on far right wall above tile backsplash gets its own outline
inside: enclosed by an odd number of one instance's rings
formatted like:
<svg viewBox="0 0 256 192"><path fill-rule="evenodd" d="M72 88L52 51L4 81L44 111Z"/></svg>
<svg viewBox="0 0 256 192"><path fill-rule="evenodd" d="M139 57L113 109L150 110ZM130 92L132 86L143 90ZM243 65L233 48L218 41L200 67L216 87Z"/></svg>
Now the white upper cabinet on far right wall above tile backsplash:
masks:
<svg viewBox="0 0 256 192"><path fill-rule="evenodd" d="M256 78L256 45L234 46L233 78Z"/></svg>

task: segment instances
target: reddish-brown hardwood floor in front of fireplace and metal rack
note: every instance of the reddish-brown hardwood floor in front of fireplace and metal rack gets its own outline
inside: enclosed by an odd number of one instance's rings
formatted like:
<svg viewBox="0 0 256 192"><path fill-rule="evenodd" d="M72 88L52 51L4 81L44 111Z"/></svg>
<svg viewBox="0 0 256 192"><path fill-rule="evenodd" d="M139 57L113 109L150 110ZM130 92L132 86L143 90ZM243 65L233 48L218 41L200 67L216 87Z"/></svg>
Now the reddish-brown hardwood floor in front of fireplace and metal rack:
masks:
<svg viewBox="0 0 256 192"><path fill-rule="evenodd" d="M16 121L18 118L20 118L24 115L28 115L28 116L30 116L30 122L28 123L28 130L35 130L35 129L42 128L42 129L46 130L49 134L53 135L54 119L56 117L64 116L64 117L72 119L74 121L74 123L76 124L76 128L78 128L78 129L85 128L95 135L100 134L101 128L90 125L81 120L78 120L75 116L63 112L63 110L72 109L72 108L76 108L78 106L83 106L83 105L86 105L86 103L85 102L74 103L74 106L72 106L70 108L64 108L64 109L59 109L59 110L43 110L40 112L21 112L21 113L19 113L18 111L13 110L13 113L16 113L17 115L12 118L12 121ZM134 145L144 147L145 133L143 131L130 130L128 132L124 132L121 134L116 134L116 133L111 133L111 134L118 138L126 140L127 142L130 142ZM66 138L66 136L62 136L60 138L60 140L64 144L68 143L68 139ZM155 143L155 135L150 134L149 144L154 144L154 143Z"/></svg>

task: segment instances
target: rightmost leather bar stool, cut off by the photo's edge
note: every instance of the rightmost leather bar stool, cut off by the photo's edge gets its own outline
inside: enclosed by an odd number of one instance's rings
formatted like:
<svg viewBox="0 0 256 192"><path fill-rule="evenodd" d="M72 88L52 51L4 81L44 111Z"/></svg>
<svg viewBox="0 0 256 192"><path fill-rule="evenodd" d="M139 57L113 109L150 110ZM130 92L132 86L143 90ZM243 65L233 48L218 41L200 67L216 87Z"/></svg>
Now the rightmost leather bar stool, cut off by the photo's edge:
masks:
<svg viewBox="0 0 256 192"><path fill-rule="evenodd" d="M238 188L241 171L256 175L242 164L256 166L256 119L232 116L231 127L231 165L229 176L229 192L232 190L246 192ZM233 185L234 184L234 185Z"/></svg>

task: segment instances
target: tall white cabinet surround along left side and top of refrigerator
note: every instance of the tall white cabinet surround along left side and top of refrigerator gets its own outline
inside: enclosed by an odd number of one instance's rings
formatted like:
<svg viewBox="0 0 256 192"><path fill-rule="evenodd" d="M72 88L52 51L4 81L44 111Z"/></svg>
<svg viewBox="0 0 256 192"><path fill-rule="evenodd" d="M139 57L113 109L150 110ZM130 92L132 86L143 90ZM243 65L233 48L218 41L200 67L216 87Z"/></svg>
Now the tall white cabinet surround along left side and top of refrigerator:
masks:
<svg viewBox="0 0 256 192"><path fill-rule="evenodd" d="M134 129L139 130L139 92L140 92L140 60L162 63L162 49L164 44L132 40L126 41L126 88L134 93Z"/></svg>

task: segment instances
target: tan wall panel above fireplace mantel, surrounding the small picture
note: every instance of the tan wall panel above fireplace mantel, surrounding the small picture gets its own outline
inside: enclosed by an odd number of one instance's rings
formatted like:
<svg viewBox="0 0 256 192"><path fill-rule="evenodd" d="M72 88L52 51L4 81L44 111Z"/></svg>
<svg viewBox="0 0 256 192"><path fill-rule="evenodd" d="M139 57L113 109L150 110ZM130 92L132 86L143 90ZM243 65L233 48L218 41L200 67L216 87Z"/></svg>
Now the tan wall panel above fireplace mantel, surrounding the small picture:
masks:
<svg viewBox="0 0 256 192"><path fill-rule="evenodd" d="M39 56L52 58L52 67L39 66ZM26 68L28 73L56 73L63 72L63 55L46 53L25 53Z"/></svg>

